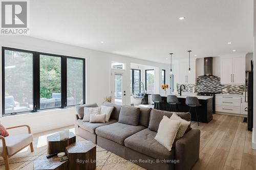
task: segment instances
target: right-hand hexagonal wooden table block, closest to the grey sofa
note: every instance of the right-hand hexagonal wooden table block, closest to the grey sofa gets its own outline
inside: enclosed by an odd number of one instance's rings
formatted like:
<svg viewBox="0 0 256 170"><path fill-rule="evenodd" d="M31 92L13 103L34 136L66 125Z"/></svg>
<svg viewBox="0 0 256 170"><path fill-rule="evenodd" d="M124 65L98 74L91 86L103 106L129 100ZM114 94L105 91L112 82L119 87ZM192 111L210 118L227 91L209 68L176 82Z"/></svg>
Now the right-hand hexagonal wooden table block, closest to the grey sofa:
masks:
<svg viewBox="0 0 256 170"><path fill-rule="evenodd" d="M96 144L89 140L76 141L66 147L69 169L92 170L96 168Z"/></svg>

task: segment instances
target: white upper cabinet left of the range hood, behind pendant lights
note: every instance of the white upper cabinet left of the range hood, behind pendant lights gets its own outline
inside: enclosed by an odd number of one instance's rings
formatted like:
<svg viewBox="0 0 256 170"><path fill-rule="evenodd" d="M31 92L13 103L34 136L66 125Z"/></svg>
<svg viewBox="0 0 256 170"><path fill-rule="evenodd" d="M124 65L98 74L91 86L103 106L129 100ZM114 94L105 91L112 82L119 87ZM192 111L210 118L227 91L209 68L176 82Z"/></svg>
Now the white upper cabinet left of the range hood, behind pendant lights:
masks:
<svg viewBox="0 0 256 170"><path fill-rule="evenodd" d="M187 61L179 63L179 84L196 84L196 62L190 62L190 72L188 72L189 64Z"/></svg>

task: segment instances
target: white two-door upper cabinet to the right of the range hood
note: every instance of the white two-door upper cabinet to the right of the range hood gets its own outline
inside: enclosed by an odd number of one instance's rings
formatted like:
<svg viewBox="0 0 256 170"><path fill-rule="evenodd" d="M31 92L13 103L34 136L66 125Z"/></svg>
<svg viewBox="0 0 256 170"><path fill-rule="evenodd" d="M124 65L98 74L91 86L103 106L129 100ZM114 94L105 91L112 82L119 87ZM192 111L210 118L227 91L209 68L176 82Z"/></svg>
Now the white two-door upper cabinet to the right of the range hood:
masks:
<svg viewBox="0 0 256 170"><path fill-rule="evenodd" d="M221 84L245 83L245 57L221 59Z"/></svg>

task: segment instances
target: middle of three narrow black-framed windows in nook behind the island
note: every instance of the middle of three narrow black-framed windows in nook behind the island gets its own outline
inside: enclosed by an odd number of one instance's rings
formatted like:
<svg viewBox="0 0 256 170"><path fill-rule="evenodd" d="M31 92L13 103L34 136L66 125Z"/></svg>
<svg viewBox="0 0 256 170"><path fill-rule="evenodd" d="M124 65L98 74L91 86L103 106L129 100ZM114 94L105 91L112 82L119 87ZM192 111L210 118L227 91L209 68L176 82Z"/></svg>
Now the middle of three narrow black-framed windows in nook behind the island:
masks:
<svg viewBox="0 0 256 170"><path fill-rule="evenodd" d="M155 70L154 69L145 70L145 89L148 94L155 93Z"/></svg>

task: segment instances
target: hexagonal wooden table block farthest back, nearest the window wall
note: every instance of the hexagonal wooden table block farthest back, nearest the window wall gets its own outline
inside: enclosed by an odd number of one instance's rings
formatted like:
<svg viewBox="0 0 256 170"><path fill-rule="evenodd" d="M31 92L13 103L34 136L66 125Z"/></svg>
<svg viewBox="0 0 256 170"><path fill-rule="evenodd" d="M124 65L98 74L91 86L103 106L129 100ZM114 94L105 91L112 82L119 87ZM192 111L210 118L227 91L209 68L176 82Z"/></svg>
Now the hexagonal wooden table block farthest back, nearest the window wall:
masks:
<svg viewBox="0 0 256 170"><path fill-rule="evenodd" d="M65 152L65 147L74 143L76 141L76 136L73 132L69 132L69 138L60 140L60 133L53 134L47 137L48 143L48 154Z"/></svg>

